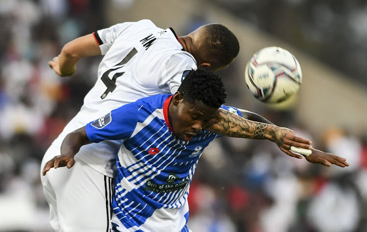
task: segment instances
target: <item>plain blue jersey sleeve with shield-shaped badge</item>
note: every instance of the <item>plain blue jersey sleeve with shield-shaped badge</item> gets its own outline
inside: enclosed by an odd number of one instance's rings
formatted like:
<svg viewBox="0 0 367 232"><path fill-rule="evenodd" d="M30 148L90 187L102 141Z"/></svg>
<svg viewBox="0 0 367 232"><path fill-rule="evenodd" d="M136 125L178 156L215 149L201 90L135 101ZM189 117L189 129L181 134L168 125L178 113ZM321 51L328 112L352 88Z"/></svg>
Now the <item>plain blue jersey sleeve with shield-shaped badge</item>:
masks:
<svg viewBox="0 0 367 232"><path fill-rule="evenodd" d="M86 125L88 139L92 142L128 139L138 123L137 103L117 108Z"/></svg>

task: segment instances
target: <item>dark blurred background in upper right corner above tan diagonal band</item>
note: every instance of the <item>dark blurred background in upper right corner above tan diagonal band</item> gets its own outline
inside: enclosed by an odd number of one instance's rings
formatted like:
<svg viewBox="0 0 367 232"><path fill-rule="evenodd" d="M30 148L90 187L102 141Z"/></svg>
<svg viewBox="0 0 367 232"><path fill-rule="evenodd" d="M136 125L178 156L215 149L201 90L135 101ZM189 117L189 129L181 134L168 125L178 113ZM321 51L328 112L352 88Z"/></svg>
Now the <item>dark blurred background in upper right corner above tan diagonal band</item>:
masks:
<svg viewBox="0 0 367 232"><path fill-rule="evenodd" d="M213 1L367 87L366 0Z"/></svg>

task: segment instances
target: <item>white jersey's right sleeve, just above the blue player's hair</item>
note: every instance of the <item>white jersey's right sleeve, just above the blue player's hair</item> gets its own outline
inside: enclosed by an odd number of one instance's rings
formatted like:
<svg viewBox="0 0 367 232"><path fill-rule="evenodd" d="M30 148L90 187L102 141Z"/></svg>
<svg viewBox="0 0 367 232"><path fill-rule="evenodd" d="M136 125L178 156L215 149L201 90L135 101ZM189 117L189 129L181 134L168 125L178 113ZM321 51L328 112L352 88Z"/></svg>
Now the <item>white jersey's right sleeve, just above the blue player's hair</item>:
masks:
<svg viewBox="0 0 367 232"><path fill-rule="evenodd" d="M161 77L162 83L170 89L171 93L176 93L190 70L196 70L196 61L186 54L174 54L164 64Z"/></svg>

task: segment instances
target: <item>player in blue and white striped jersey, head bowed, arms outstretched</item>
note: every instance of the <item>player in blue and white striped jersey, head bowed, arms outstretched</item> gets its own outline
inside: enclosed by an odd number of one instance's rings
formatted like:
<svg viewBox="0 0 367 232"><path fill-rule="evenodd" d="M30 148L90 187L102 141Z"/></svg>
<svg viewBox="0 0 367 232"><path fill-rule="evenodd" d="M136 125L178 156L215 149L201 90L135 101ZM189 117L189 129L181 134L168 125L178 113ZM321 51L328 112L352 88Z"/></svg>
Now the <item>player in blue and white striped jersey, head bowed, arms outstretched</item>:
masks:
<svg viewBox="0 0 367 232"><path fill-rule="evenodd" d="M188 232L190 182L213 139L269 139L280 148L309 147L307 139L287 128L242 118L236 108L223 105L226 96L219 75L191 70L175 94L139 99L68 134L61 155L46 162L43 174L51 167L70 168L82 145L123 139L116 162L113 231ZM219 108L235 114L218 115ZM229 125L228 116L233 117Z"/></svg>

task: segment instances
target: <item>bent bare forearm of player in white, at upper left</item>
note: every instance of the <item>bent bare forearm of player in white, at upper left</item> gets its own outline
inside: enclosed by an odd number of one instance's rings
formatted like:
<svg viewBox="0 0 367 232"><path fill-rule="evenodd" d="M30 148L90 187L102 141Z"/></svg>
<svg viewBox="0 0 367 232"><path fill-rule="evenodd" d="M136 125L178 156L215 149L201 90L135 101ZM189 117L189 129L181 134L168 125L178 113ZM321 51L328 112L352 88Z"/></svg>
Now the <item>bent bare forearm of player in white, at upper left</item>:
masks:
<svg viewBox="0 0 367 232"><path fill-rule="evenodd" d="M87 56L101 55L101 50L94 35L79 37L66 44L61 53L48 62L48 65L60 76L71 76L76 70L76 64Z"/></svg>

